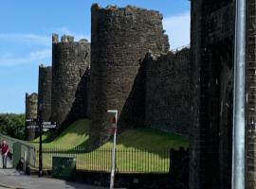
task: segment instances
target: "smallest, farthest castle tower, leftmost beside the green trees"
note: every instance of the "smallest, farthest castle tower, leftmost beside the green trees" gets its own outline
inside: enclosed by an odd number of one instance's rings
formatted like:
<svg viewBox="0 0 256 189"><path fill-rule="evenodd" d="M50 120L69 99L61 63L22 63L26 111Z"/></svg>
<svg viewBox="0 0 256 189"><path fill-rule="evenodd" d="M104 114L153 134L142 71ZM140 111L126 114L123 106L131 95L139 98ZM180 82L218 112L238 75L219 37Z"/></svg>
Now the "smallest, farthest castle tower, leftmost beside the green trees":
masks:
<svg viewBox="0 0 256 189"><path fill-rule="evenodd" d="M36 93L26 94L26 119L36 119L37 118L37 102L38 95ZM27 129L27 126L31 123L26 122L26 140L31 141L36 137L36 129Z"/></svg>

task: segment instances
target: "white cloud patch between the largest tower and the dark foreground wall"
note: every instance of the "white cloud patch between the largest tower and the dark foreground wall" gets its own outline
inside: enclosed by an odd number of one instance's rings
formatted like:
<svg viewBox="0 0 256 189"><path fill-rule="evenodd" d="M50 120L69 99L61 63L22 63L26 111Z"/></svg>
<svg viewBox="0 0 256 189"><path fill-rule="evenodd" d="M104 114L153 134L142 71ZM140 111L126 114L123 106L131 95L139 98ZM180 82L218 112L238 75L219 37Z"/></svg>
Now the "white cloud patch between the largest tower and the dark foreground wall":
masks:
<svg viewBox="0 0 256 189"><path fill-rule="evenodd" d="M163 26L169 36L171 49L190 44L191 13L184 12L163 19Z"/></svg>

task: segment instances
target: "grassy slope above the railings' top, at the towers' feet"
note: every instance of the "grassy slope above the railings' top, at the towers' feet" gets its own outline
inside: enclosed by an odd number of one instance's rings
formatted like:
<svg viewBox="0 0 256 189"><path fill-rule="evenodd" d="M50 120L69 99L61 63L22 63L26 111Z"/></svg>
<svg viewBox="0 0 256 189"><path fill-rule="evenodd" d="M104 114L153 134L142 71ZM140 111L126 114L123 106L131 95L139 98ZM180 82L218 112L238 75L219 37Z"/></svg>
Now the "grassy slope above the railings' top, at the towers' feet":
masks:
<svg viewBox="0 0 256 189"><path fill-rule="evenodd" d="M89 139L90 120L81 119L70 125L54 141L49 142L49 136L44 135L44 146L61 147L83 147ZM38 143L38 139L34 141ZM189 146L188 137L175 135L155 129L127 129L118 135L118 148L137 149L168 149ZM112 142L108 142L101 148L112 147Z"/></svg>

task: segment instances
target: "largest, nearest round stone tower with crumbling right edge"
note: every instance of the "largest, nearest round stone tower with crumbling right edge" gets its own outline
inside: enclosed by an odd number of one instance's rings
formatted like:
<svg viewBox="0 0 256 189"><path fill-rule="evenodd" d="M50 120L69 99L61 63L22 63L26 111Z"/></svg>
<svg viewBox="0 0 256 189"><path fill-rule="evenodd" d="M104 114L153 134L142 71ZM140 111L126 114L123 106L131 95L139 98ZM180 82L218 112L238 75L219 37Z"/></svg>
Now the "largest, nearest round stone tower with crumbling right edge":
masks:
<svg viewBox="0 0 256 189"><path fill-rule="evenodd" d="M169 50L158 11L91 8L91 137L101 143L110 122L107 110L119 111L119 127L141 127L145 119L145 70L148 51Z"/></svg>

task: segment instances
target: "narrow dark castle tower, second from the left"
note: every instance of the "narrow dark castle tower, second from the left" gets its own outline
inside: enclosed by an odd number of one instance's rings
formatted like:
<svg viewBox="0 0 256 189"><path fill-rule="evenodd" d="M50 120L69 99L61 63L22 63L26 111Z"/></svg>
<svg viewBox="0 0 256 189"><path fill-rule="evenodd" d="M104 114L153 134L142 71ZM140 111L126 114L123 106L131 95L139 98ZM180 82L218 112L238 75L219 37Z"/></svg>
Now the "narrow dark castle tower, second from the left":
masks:
<svg viewBox="0 0 256 189"><path fill-rule="evenodd" d="M51 66L39 66L38 117L49 121L51 116Z"/></svg>

